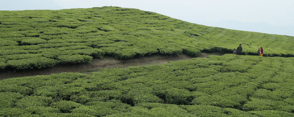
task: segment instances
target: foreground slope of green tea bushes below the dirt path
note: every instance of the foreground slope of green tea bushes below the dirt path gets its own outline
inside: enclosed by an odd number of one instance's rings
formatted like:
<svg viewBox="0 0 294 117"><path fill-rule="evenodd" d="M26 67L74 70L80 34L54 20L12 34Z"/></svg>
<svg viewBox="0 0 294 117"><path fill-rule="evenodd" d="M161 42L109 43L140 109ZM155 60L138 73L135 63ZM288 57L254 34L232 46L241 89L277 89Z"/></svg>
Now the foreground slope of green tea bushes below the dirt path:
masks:
<svg viewBox="0 0 294 117"><path fill-rule="evenodd" d="M0 116L293 117L293 82L294 58L233 54L11 78L0 81Z"/></svg>

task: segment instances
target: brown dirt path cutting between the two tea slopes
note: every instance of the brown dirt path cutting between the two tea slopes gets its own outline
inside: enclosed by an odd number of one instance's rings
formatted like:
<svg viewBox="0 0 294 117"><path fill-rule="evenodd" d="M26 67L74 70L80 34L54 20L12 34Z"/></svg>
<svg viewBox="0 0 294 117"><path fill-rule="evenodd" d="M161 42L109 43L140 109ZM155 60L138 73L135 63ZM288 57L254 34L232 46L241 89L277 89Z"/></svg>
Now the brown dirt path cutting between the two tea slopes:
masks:
<svg viewBox="0 0 294 117"><path fill-rule="evenodd" d="M222 55L221 53L200 53L198 57L205 58L208 55ZM96 72L100 69L107 68L125 68L131 66L146 66L146 65L158 65L168 63L169 61L181 61L186 59L194 58L185 54L180 54L177 56L167 56L162 54L155 54L151 56L140 56L132 59L119 60L114 59L110 56L104 56L103 59L93 59L91 63L88 64L74 64L74 65L56 65L52 68L45 69L34 69L34 70L24 70L24 71L1 71L0 80L7 78L25 77L25 76L35 76L35 75L50 75L52 73L63 73L63 72L80 72L89 73Z"/></svg>

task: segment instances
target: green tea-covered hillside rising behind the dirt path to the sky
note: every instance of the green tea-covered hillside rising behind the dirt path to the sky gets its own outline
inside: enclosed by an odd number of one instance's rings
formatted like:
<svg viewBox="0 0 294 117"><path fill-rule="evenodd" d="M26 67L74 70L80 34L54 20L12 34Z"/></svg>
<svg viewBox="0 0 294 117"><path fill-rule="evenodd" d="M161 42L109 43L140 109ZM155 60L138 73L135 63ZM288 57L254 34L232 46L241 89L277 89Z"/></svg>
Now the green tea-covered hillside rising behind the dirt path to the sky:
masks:
<svg viewBox="0 0 294 117"><path fill-rule="evenodd" d="M294 56L294 37L188 23L133 8L0 11L0 69L89 63L154 53L196 56L201 51Z"/></svg>

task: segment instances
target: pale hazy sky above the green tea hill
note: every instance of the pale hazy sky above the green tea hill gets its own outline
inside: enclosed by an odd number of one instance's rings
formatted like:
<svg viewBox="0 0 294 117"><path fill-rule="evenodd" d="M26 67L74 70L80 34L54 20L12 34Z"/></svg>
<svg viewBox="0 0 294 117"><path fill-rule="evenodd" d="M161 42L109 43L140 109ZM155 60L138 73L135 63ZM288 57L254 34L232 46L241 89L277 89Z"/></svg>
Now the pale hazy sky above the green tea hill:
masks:
<svg viewBox="0 0 294 117"><path fill-rule="evenodd" d="M119 6L191 23L294 36L293 0L0 0L0 10Z"/></svg>

